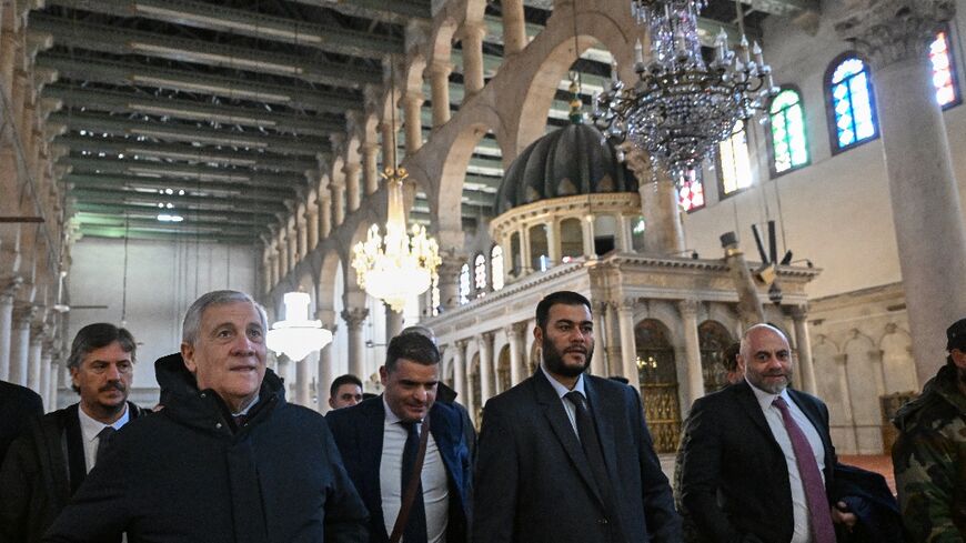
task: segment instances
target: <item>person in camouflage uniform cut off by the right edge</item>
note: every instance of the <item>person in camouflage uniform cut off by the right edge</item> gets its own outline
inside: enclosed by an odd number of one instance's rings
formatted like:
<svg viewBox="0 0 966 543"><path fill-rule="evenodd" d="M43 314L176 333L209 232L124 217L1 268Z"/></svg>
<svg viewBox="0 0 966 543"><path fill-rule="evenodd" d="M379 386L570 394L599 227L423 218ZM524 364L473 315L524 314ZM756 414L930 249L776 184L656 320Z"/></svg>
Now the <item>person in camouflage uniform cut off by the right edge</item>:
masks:
<svg viewBox="0 0 966 543"><path fill-rule="evenodd" d="M915 543L966 541L966 319L946 336L946 365L894 421L896 486Z"/></svg>

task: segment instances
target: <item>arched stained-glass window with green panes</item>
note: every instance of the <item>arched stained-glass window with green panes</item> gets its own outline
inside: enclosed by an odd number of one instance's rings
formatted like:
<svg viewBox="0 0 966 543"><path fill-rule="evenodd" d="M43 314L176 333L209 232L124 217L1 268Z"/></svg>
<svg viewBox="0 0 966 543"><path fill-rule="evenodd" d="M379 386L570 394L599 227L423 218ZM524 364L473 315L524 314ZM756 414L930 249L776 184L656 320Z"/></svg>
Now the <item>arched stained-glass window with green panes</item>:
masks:
<svg viewBox="0 0 966 543"><path fill-rule="evenodd" d="M808 138L802 95L784 89L768 109L772 127L772 173L784 173L808 164Z"/></svg>

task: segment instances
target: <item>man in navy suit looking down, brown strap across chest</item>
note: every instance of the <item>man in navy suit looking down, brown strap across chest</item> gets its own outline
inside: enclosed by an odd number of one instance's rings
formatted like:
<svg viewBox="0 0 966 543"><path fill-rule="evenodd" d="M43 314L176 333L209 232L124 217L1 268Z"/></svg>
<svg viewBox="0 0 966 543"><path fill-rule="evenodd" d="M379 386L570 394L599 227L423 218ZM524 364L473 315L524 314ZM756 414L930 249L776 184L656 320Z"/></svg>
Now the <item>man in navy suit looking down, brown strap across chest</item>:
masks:
<svg viewBox="0 0 966 543"><path fill-rule="evenodd" d="M379 373L383 394L325 416L349 476L369 509L369 541L390 540L429 418L421 484L403 542L465 543L472 464L463 418L454 404L436 401L439 350L423 334L400 334L390 341Z"/></svg>

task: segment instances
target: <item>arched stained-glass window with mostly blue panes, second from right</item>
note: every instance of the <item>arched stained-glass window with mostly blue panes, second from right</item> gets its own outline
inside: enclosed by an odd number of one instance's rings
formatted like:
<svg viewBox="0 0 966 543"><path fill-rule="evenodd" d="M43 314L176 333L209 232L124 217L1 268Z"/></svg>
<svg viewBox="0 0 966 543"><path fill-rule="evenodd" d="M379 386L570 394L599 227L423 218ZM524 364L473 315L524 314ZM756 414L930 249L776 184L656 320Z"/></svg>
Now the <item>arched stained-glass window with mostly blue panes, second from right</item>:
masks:
<svg viewBox="0 0 966 543"><path fill-rule="evenodd" d="M839 59L832 64L825 87L832 107L833 152L878 135L868 67L855 54Z"/></svg>

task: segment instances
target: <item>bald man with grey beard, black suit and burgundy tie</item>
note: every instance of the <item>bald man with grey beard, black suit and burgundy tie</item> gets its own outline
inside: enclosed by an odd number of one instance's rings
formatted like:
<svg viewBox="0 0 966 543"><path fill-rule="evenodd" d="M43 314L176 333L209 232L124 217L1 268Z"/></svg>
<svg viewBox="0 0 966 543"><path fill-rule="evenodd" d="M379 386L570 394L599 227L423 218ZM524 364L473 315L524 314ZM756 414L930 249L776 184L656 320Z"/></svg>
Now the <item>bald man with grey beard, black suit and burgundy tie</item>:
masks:
<svg viewBox="0 0 966 543"><path fill-rule="evenodd" d="M828 410L788 388L792 350L778 329L742 338L744 380L694 402L682 443L682 501L721 543L834 543L855 515L832 506L837 463Z"/></svg>

